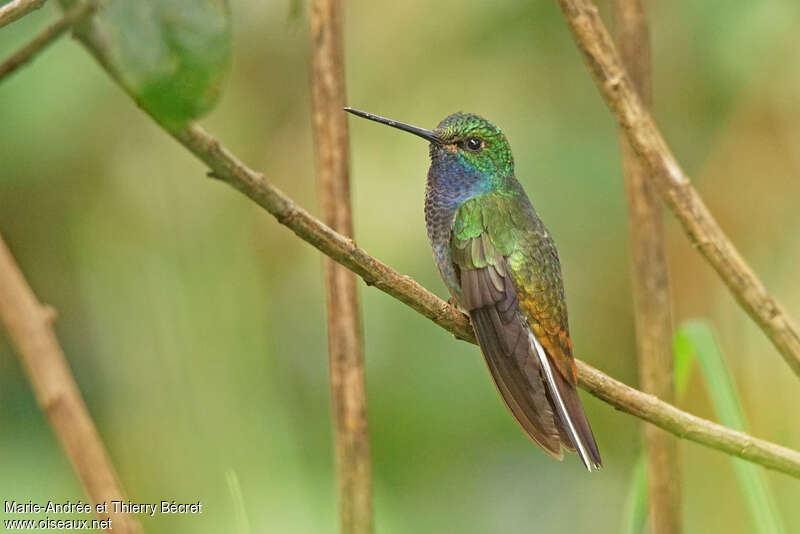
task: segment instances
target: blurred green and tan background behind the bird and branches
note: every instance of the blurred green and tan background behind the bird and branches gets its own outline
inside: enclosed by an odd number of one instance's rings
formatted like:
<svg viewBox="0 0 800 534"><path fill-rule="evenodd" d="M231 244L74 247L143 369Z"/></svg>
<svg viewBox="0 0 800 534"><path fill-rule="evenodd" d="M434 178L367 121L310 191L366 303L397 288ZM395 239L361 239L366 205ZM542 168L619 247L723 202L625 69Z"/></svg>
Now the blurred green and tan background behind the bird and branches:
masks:
<svg viewBox="0 0 800 534"><path fill-rule="evenodd" d="M301 2L305 4L304 2ZM739 250L800 317L800 4L652 2L655 115ZM202 122L317 212L307 7L232 1L231 72ZM606 16L608 3L601 3ZM8 55L58 13L0 31ZM636 384L617 132L556 2L348 2L349 103L499 124L559 245L580 358ZM351 121L358 243L440 295L427 148ZM74 41L0 84L0 233L56 329L130 499L201 500L147 532L337 531L320 255L205 170ZM752 433L800 447L800 388L667 215L676 324L708 318ZM378 533L618 532L641 423L584 395L605 469L517 428L478 350L361 284ZM695 370L681 407L715 418ZM0 498L85 499L0 334ZM686 532L753 532L728 458L681 442ZM785 523L800 485L768 473ZM7 517L6 515L2 516Z"/></svg>

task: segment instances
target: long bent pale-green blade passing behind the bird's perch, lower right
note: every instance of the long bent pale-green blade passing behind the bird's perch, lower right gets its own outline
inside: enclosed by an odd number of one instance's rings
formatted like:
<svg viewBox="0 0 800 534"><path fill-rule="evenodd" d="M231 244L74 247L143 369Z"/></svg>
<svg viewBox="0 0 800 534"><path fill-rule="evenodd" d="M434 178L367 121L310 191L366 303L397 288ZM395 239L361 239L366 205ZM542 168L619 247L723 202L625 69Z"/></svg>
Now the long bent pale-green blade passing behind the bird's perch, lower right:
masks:
<svg viewBox="0 0 800 534"><path fill-rule="evenodd" d="M681 354L682 360L697 359L700 364L720 422L734 430L747 432L733 379L709 325L704 321L687 321L678 328L674 341L676 359ZM739 458L731 457L731 462L752 518L754 532L784 534L786 529L762 471Z"/></svg>

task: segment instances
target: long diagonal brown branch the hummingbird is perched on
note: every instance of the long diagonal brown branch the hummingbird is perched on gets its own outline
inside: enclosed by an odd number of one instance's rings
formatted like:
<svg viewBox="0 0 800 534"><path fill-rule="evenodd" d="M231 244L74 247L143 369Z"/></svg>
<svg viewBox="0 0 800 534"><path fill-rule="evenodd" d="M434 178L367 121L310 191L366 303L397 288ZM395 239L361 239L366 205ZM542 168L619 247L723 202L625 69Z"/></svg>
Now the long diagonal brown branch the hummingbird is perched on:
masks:
<svg viewBox="0 0 800 534"><path fill-rule="evenodd" d="M119 82L117 73L110 67L102 40L91 33L81 33L79 37L100 65ZM120 85L124 88L124 85ZM158 122L156 117L152 118ZM398 273L370 256L352 239L333 231L313 217L270 184L263 174L245 166L200 126L191 125L178 131L164 129L208 166L216 178L249 197L298 237L363 278L367 285L375 286L396 298L452 332L456 338L475 343L475 333L466 315L409 276ZM615 408L678 437L800 478L800 452L688 414L652 395L626 386L582 361L576 363L581 387Z"/></svg>

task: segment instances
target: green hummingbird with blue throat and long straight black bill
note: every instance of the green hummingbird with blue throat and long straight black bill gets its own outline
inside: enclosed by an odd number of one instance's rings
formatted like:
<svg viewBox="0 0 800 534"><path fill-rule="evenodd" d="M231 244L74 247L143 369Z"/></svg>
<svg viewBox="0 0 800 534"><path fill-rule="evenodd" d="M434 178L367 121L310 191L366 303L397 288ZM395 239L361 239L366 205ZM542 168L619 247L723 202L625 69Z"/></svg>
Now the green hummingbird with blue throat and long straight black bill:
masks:
<svg viewBox="0 0 800 534"><path fill-rule="evenodd" d="M472 113L426 130L345 111L430 143L425 223L439 273L465 310L500 396L528 437L589 471L600 453L578 397L561 264L514 173L503 132Z"/></svg>

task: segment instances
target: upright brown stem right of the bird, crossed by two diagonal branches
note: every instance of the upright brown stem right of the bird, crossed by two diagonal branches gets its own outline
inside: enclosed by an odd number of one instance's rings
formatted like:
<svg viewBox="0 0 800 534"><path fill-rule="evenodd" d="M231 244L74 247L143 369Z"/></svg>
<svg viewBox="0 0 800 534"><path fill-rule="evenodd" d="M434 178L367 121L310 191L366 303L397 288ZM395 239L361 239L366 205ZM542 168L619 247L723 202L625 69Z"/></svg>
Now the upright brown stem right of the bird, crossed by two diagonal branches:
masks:
<svg viewBox="0 0 800 534"><path fill-rule="evenodd" d="M616 0L618 42L628 75L646 106L652 101L650 40L644 0ZM639 386L674 402L672 320L664 229L658 192L620 131L628 196L633 301ZM644 427L650 525L654 534L680 534L680 467L676 440L652 425Z"/></svg>

